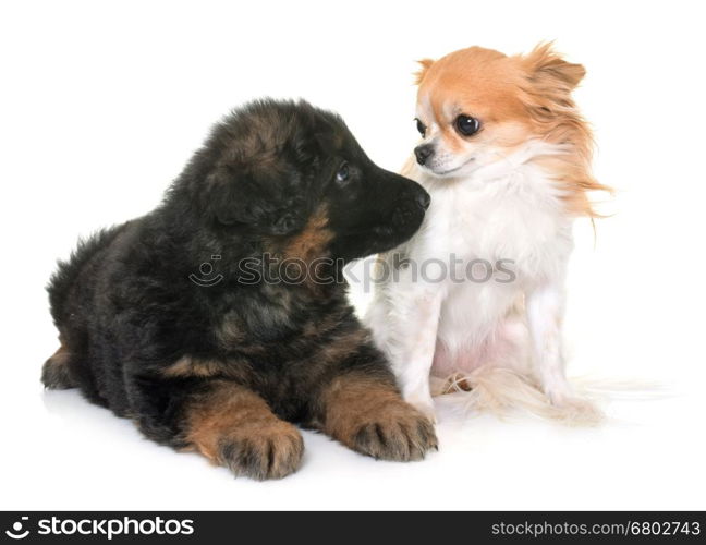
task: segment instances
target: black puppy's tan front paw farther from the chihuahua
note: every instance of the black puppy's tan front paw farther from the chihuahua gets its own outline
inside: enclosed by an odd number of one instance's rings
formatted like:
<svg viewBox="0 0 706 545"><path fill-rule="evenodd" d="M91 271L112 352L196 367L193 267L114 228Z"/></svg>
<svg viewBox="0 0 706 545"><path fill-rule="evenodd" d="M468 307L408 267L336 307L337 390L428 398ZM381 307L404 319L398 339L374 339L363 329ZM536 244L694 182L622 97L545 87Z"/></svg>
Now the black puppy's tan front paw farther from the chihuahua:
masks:
<svg viewBox="0 0 706 545"><path fill-rule="evenodd" d="M281 479L302 463L304 441L299 429L288 422L248 423L219 440L218 462L235 475L258 481Z"/></svg>

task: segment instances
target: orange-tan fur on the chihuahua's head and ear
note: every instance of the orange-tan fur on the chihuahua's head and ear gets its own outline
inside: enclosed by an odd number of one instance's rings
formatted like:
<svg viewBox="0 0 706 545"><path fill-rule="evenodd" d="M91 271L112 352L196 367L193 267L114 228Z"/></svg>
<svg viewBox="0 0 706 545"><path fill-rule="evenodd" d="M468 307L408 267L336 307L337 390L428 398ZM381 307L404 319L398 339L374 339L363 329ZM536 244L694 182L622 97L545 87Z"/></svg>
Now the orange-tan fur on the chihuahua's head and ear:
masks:
<svg viewBox="0 0 706 545"><path fill-rule="evenodd" d="M587 193L610 189L591 173L591 129L571 97L585 74L582 65L561 59L550 44L513 57L471 47L419 63L418 114L431 118L421 121L436 129L442 149L458 156L494 149L500 160L530 140L565 146L561 156L535 160L556 173L570 214L599 216ZM482 130L459 134L453 121L461 113L479 119Z"/></svg>

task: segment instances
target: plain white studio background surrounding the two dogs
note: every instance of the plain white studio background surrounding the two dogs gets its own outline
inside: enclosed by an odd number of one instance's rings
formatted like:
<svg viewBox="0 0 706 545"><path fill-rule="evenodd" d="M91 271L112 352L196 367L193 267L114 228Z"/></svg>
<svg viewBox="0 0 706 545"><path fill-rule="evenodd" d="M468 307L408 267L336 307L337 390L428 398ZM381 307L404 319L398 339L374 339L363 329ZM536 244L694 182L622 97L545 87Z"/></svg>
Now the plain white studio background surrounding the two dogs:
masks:
<svg viewBox="0 0 706 545"><path fill-rule="evenodd" d="M46 2L0 8L0 508L704 509L706 117L698 3ZM572 373L656 382L598 428L440 410L441 450L376 462L305 434L302 470L234 480L143 439L75 391L45 392L44 286L80 234L142 215L243 101L306 97L397 169L416 140L414 60L556 39L588 70L596 173L576 225ZM364 304L365 295L355 292ZM634 397L634 396L633 396Z"/></svg>

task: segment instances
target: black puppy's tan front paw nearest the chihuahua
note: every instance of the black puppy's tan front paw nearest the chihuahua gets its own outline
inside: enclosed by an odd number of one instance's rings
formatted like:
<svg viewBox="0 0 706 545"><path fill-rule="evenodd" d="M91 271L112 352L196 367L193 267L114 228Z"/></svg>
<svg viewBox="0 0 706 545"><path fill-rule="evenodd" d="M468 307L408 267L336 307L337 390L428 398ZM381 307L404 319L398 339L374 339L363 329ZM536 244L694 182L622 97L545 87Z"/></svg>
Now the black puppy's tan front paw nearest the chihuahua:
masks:
<svg viewBox="0 0 706 545"><path fill-rule="evenodd" d="M438 450L438 443L429 419L400 401L365 419L352 434L351 448L377 459L411 461Z"/></svg>

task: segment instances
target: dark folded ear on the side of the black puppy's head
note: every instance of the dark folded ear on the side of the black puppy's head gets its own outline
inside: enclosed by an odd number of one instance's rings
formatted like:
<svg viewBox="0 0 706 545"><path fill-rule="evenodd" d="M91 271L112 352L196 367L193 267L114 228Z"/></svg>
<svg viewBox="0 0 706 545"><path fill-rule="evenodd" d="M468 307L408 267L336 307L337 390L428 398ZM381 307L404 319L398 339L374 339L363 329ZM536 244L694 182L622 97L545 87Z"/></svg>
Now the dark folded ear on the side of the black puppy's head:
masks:
<svg viewBox="0 0 706 545"><path fill-rule="evenodd" d="M302 227L303 220L287 196L287 185L271 175L218 167L206 178L203 205L220 226L260 234L291 234Z"/></svg>

